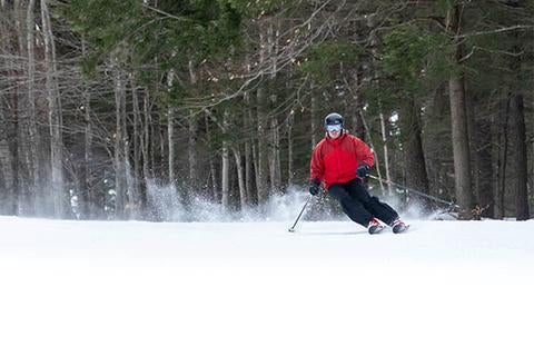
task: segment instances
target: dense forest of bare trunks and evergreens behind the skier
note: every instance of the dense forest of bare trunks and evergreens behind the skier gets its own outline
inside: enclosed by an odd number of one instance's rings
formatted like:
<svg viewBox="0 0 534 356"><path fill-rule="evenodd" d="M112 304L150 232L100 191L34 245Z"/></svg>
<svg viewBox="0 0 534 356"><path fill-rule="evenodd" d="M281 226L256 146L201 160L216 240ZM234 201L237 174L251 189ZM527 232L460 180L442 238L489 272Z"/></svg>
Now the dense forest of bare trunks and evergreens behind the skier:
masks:
<svg viewBox="0 0 534 356"><path fill-rule="evenodd" d="M533 44L530 0L0 0L1 214L261 206L337 111L375 175L527 219Z"/></svg>

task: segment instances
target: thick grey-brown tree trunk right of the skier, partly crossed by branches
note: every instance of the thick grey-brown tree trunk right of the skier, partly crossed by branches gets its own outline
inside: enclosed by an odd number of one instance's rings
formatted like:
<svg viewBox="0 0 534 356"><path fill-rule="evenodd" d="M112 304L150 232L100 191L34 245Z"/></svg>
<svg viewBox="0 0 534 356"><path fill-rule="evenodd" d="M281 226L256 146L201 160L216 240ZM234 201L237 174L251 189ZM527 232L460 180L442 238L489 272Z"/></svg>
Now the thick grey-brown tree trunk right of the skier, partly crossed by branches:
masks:
<svg viewBox="0 0 534 356"><path fill-rule="evenodd" d="M452 9L451 30L455 34L454 60L459 63L462 59L462 14L459 6ZM473 207L472 172L469 159L469 136L467 125L467 110L465 97L465 82L461 73L453 73L448 79L448 90L451 100L451 123L453 138L455 191L457 202L466 210ZM463 218L469 218L468 211L462 215Z"/></svg>

